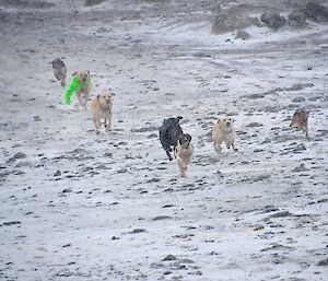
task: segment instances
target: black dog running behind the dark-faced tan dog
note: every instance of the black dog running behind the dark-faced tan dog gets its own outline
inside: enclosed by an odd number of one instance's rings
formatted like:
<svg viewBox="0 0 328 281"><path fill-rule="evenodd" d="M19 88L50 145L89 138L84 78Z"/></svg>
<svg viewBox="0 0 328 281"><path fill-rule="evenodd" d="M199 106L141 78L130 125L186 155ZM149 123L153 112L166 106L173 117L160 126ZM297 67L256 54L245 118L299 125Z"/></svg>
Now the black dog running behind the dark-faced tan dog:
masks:
<svg viewBox="0 0 328 281"><path fill-rule="evenodd" d="M174 147L175 149L178 139L184 133L179 125L180 119L183 119L181 116L164 119L162 126L160 127L160 141L169 161L173 160L169 153L172 152L171 147Z"/></svg>

